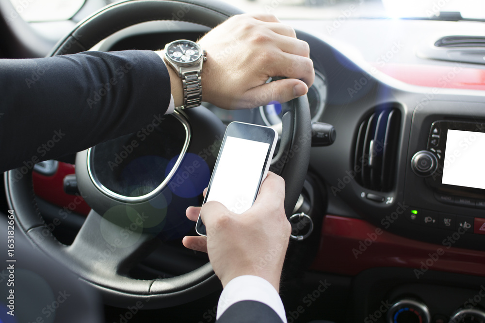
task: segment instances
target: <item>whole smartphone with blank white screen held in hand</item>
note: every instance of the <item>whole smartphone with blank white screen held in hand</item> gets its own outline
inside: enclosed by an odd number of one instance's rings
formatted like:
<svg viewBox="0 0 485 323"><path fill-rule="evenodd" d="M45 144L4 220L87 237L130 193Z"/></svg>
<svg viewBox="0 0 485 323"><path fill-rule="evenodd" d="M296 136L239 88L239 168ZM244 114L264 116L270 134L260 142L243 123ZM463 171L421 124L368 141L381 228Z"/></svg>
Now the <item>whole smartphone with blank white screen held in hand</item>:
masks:
<svg viewBox="0 0 485 323"><path fill-rule="evenodd" d="M237 214L247 211L268 174L277 140L278 134L273 128L229 123L203 203L218 201ZM207 236L200 215L195 231Z"/></svg>

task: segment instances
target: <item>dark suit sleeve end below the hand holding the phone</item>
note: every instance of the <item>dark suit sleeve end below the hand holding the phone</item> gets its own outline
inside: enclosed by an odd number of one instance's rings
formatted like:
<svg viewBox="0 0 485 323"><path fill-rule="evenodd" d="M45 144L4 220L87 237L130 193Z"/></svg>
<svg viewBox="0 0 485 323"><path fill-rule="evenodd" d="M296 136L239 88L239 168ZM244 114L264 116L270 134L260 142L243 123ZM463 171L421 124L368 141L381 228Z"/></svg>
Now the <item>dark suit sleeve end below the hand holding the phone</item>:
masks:
<svg viewBox="0 0 485 323"><path fill-rule="evenodd" d="M222 313L217 323L282 323L273 308L257 301L234 303Z"/></svg>

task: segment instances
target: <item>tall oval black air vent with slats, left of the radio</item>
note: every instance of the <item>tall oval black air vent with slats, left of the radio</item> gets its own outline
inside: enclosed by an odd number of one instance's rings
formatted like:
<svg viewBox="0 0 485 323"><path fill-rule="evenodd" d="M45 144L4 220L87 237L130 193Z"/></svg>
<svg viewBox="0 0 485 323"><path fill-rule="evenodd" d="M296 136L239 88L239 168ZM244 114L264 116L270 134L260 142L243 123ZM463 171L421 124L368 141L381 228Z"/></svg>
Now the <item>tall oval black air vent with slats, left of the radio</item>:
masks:
<svg viewBox="0 0 485 323"><path fill-rule="evenodd" d="M354 157L357 183L375 191L391 190L396 177L400 125L400 110L389 106L375 108L360 123Z"/></svg>

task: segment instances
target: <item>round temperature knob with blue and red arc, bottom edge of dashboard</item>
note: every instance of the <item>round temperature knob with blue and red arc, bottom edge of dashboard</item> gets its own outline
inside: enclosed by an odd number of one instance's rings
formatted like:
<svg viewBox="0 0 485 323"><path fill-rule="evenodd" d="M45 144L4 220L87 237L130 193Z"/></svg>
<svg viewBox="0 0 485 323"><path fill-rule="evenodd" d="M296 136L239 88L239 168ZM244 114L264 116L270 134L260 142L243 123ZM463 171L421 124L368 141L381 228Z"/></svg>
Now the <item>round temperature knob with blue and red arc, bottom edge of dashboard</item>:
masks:
<svg viewBox="0 0 485 323"><path fill-rule="evenodd" d="M431 316L428 307L412 299L394 303L388 311L388 323L429 323Z"/></svg>

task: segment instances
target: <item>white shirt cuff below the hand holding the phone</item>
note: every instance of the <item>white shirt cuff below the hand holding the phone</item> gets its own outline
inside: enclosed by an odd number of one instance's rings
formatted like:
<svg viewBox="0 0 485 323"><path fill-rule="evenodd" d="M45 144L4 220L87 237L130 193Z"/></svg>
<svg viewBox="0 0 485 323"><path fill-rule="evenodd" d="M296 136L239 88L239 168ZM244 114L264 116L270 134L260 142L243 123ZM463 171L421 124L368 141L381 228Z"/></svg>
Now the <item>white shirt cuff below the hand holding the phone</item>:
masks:
<svg viewBox="0 0 485 323"><path fill-rule="evenodd" d="M278 292L264 278L246 275L229 281L219 297L216 320L219 320L227 308L240 301L257 301L266 304L278 314L284 323L287 323L285 307Z"/></svg>

